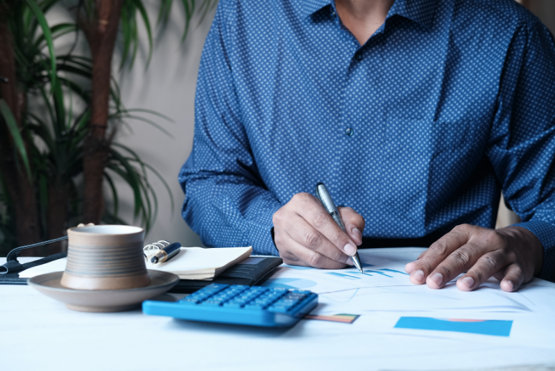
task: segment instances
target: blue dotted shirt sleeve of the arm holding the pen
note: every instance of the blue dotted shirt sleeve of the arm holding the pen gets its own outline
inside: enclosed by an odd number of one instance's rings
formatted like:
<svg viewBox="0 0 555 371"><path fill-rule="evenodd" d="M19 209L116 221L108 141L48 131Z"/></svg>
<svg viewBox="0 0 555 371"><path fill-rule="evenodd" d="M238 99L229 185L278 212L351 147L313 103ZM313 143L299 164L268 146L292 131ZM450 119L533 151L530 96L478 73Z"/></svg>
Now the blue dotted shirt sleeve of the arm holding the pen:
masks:
<svg viewBox="0 0 555 371"><path fill-rule="evenodd" d="M200 60L194 145L179 174L182 216L205 245L278 254L272 216L282 205L257 170L232 79L236 9L220 1Z"/></svg>

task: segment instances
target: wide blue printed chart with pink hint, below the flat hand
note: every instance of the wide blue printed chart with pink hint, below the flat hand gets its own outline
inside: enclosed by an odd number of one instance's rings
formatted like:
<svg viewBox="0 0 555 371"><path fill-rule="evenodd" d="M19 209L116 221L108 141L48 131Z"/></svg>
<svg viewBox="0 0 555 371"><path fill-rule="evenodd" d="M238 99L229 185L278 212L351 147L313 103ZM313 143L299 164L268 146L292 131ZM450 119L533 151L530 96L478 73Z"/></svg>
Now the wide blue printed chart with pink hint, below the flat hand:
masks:
<svg viewBox="0 0 555 371"><path fill-rule="evenodd" d="M455 331L481 335L509 336L513 321L456 320L426 317L401 317L397 329Z"/></svg>

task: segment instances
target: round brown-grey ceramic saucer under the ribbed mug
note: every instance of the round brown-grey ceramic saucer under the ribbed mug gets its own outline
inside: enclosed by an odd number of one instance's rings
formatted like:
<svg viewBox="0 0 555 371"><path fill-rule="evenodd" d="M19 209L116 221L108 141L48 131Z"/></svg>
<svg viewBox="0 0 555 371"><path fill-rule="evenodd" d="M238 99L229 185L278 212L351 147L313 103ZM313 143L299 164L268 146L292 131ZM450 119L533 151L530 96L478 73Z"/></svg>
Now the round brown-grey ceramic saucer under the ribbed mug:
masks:
<svg viewBox="0 0 555 371"><path fill-rule="evenodd" d="M35 276L28 285L52 299L65 303L67 308L82 312L121 312L139 308L141 303L171 289L179 281L176 274L148 270L151 283L139 288L123 290L74 290L60 285L64 272Z"/></svg>

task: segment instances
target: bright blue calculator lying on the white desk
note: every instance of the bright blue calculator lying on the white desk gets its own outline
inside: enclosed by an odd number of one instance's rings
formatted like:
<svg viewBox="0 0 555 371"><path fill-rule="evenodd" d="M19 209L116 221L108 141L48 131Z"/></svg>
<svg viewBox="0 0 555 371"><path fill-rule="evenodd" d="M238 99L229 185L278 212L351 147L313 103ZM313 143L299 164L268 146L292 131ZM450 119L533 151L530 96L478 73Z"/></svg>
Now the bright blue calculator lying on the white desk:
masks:
<svg viewBox="0 0 555 371"><path fill-rule="evenodd" d="M310 291L262 286L210 286L178 302L143 302L143 313L167 315L182 320L290 327L318 305Z"/></svg>

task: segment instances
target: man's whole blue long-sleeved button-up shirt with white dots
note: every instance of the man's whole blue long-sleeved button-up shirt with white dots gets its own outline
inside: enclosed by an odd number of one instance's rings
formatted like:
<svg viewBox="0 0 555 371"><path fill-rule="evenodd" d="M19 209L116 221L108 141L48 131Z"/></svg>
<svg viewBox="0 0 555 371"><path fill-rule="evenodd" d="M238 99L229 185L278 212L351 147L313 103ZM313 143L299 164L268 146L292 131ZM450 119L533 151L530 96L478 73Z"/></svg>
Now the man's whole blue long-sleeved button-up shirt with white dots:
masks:
<svg viewBox="0 0 555 371"><path fill-rule="evenodd" d="M324 182L364 237L493 227L506 202L555 279L555 46L513 0L397 0L361 46L330 0L221 0L182 215L278 254L272 215Z"/></svg>

